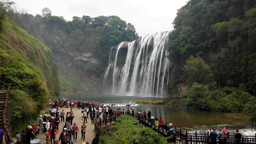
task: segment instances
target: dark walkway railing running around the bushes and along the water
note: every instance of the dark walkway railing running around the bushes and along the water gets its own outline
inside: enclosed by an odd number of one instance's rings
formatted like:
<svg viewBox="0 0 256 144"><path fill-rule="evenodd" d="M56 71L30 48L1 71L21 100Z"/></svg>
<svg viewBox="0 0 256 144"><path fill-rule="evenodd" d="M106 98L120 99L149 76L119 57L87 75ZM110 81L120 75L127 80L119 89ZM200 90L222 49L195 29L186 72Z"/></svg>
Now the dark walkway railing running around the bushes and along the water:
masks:
<svg viewBox="0 0 256 144"><path fill-rule="evenodd" d="M124 114L127 114L125 112ZM134 117L135 119L138 119L140 124L142 124L145 127L149 127L153 129L155 132L160 133L164 137L167 137L167 131L168 131L168 124L167 122L163 123L162 129L155 127L153 124L151 124L150 121L147 121L145 118L141 118L139 114L129 114L130 116ZM117 113L114 112L113 116L104 118L104 119L98 119L97 121L95 120L95 132L100 133L100 128L104 124L112 124L113 122L116 122L118 119ZM235 137L234 135L229 135L227 139L217 139L217 141L211 141L209 136L207 134L198 134L197 132L195 133L188 133L187 130L186 132L183 132L182 129L174 127L177 131L177 134L174 135L174 141L176 144L255 144L256 143L256 133L255 136L243 136L241 138L241 143L235 142Z"/></svg>

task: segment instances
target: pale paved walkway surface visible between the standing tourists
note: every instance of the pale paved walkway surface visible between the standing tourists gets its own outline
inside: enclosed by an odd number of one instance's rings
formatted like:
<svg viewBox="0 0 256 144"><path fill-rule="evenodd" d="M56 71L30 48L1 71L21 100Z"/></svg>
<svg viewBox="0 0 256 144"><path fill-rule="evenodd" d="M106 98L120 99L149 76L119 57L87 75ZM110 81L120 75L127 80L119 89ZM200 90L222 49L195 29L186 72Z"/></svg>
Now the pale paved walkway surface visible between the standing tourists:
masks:
<svg viewBox="0 0 256 144"><path fill-rule="evenodd" d="M64 112L66 114L66 112L70 111L70 108L61 108L61 110L64 110ZM95 131L94 131L94 124L91 124L90 116L89 116L89 118L87 118L87 122L88 123L85 123L85 125L86 125L86 132L85 132L85 141L84 141L84 140L81 140L81 126L82 126L82 123L84 122L84 121L82 121L81 108L80 108L80 110L78 110L78 108L76 110L73 109L73 112L75 114L75 117L73 119L73 124L76 123L76 125L79 128L79 133L78 133L78 136L77 136L77 142L75 142L75 140L73 140L73 137L71 139L72 142L74 144L82 144L83 142L89 142L89 144L91 144L92 140L95 138ZM65 125L64 122L60 122L59 130L58 130L58 133L56 134L56 139L59 139L60 133L62 132L62 129L63 129L64 125ZM71 126L71 128L72 128L72 126ZM40 142L39 144L46 143L46 140L45 140L46 139L46 135L45 134L39 133L38 139L42 140L42 142ZM59 142L59 144L60 144L60 142Z"/></svg>

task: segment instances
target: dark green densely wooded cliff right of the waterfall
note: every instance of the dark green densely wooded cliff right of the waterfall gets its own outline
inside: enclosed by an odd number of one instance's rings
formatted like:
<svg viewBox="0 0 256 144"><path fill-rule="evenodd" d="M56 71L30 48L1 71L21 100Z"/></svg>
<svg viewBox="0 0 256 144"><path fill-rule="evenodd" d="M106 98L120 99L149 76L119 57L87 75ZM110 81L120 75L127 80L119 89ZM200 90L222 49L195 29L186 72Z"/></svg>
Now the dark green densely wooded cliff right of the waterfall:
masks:
<svg viewBox="0 0 256 144"><path fill-rule="evenodd" d="M249 112L255 126L255 7L255 0L190 0L178 10L169 57L182 67L177 80L197 82L179 106Z"/></svg>

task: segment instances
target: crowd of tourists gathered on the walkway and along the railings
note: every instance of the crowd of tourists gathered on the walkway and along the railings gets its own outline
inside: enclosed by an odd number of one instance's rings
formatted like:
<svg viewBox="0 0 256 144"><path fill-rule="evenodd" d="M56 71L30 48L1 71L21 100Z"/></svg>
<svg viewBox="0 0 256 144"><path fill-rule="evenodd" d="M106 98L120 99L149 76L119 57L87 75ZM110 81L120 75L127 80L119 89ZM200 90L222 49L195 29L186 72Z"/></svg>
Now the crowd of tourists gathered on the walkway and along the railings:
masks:
<svg viewBox="0 0 256 144"><path fill-rule="evenodd" d="M104 119L107 117L111 117L114 115L114 113L117 114L117 116L120 116L121 114L127 114L131 116L135 116L135 111L132 108L128 108L127 111L123 108L118 108L116 112L108 106L104 105L102 103L93 104L91 101L86 102L84 101L75 101L75 100L56 100L52 103L52 110L49 114L44 114L44 116L40 115L37 119L38 126L36 127L36 124L33 123L31 126L27 126L26 129L22 130L22 133L19 134L16 132L16 138L17 138L17 144L30 144L30 141L32 139L36 139L37 135L39 133L43 133L46 135L46 144L73 144L73 140L76 142L78 133L81 132L81 140L85 141L85 132L86 132L86 123L88 123L87 118L91 119L91 124L94 124L95 120L98 119ZM55 108L55 109L54 109ZM68 112L64 112L64 110L61 110L62 108L70 108ZM57 110L56 110L57 109ZM83 124L81 127L77 126L76 123L73 123L73 118L75 117L75 114L73 112L74 110L80 110L82 113L82 119ZM158 128L159 130L163 130L163 120L161 117L153 117L151 116L151 112L148 109L148 112L145 110L138 110L137 112L138 116L137 118L144 119L146 121L150 121L151 125ZM56 134L59 132L59 124L60 122L65 122L65 125L63 128L60 128L62 130L60 136L58 139L56 139ZM80 129L80 130L79 130ZM227 131L228 126L226 126L223 130L219 129L219 134L215 132L215 129L212 129L211 127L209 130L207 130L207 134L209 135L211 143L217 142L217 138L219 139L220 144L223 144L223 139L226 138L226 135L229 133ZM235 135L236 142L239 144L241 140L241 134L237 130L238 134ZM167 128L167 136L175 135L177 134L176 130L170 123ZM174 138L168 139L169 142L175 142ZM97 144L99 142L99 134L95 134L95 138L92 141L92 144ZM86 142L88 143L88 142Z"/></svg>

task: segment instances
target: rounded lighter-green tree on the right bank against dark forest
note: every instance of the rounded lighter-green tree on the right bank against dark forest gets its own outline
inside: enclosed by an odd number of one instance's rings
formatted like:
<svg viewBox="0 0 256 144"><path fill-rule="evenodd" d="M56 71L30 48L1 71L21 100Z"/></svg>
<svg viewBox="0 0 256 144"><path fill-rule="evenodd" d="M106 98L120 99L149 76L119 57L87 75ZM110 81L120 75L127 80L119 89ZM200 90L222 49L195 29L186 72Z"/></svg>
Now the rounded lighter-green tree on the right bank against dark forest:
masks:
<svg viewBox="0 0 256 144"><path fill-rule="evenodd" d="M200 84L207 84L209 82L209 77L212 74L210 66L204 62L201 57L194 58L193 56L187 60L184 66L186 75L192 82L197 82Z"/></svg>

